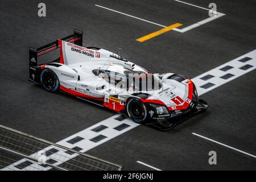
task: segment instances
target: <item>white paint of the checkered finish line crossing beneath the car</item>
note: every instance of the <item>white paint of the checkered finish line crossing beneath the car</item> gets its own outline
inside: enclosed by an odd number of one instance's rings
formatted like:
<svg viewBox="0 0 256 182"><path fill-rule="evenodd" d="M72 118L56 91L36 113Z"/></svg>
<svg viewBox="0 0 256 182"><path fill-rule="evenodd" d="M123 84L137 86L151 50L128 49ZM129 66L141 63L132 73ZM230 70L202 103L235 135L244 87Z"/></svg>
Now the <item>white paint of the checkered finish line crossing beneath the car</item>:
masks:
<svg viewBox="0 0 256 182"><path fill-rule="evenodd" d="M256 49L254 49L249 53L246 53L245 55L237 57L236 59L228 61L227 63L222 64L217 68L211 69L210 71L205 72L195 78L192 78L192 81L196 85L199 96L201 96L209 92L210 90L217 88L218 86L226 84L229 81L234 80L235 78L238 78L250 71L253 71L255 68L256 68ZM208 85L208 86L205 86L205 85ZM121 114L115 114L110 118L107 118L99 123L96 123L95 125L92 125L80 131L79 133L73 134L63 140L60 140L59 142L57 142L57 144L60 144L68 148L80 147L81 148L80 152L86 152L88 150L91 150L94 147L99 146L100 144L103 144L115 137L118 137L123 133L126 133L127 131L130 131L131 129L134 129L137 126L140 126L139 124L131 121L131 119L122 118L122 117L120 118L120 117L121 117ZM102 127L102 126L105 126L105 129L102 129L97 132L93 131L93 129L96 129L97 127ZM117 128L118 126L119 126L119 129ZM120 128L120 126L122 127ZM92 139L98 136L101 136L101 137L103 136L103 138L100 138L100 140L98 140L97 142L96 141L93 142ZM68 143L69 140L74 139L76 137L81 137L82 140L75 143ZM53 146L44 148L44 151L47 151L49 150L49 148L52 148L52 147ZM61 152L61 154L57 152L56 154L47 156L47 159L55 159L57 160L56 164L59 165L76 156L76 155L68 155L63 151L59 151L59 152ZM37 158L38 154L35 153L35 154L32 154L31 156L33 156L34 158ZM22 162L24 161L19 160L18 162L14 163L14 165L11 164L10 166L7 166L4 169L5 170L8 170L9 168L15 169L14 166ZM36 164L36 163L33 164L33 167L42 169L42 166L39 166L39 164ZM44 170L48 170L48 169L51 169L51 167L44 168Z"/></svg>

